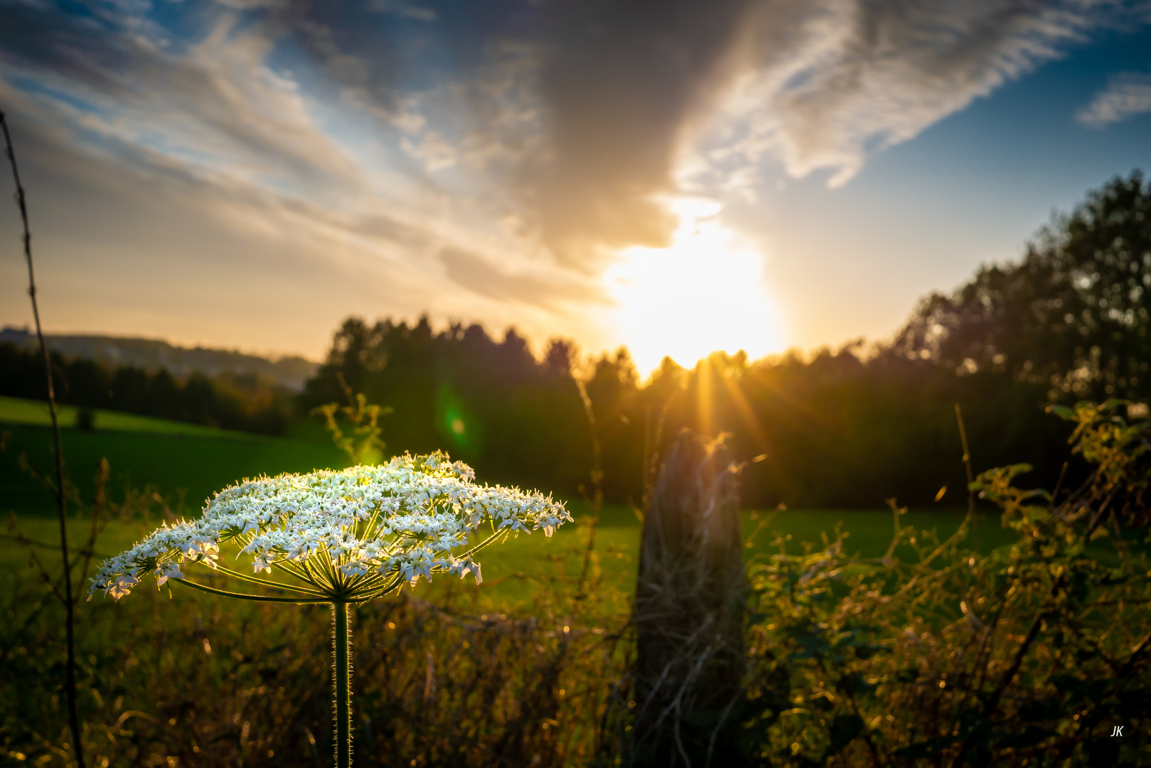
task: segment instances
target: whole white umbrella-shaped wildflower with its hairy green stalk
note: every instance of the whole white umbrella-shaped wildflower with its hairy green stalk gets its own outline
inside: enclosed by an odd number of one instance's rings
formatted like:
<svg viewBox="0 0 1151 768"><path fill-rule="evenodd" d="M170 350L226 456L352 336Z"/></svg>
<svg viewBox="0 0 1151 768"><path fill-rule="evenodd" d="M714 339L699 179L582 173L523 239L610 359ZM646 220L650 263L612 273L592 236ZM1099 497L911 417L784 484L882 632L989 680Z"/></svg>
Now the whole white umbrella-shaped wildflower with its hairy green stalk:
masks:
<svg viewBox="0 0 1151 768"><path fill-rule="evenodd" d="M196 520L163 524L131 549L108 558L92 579L116 600L147 575L237 600L331 606L333 715L337 768L352 754L349 607L382 598L433 573L471 573L474 555L520 532L551 533L571 515L539 493L480 486L474 472L445 454L397 456L379 466L280 474L226 488ZM488 529L488 531L483 531ZM237 545L253 573L220 563L220 545ZM260 592L235 592L191 580L199 567ZM275 573L277 578L258 576Z"/></svg>

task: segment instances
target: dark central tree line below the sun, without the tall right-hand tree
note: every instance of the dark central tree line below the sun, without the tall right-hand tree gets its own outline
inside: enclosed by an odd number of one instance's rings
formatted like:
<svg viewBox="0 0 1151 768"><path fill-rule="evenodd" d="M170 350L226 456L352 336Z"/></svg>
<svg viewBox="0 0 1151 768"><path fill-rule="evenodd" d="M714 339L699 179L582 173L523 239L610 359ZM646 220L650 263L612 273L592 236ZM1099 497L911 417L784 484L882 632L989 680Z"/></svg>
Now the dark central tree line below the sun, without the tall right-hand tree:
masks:
<svg viewBox="0 0 1151 768"><path fill-rule="evenodd" d="M1036 383L956 375L890 351L756 362L716 352L692 370L665 359L646 383L625 349L582 372L576 360L563 340L536 360L513 332L497 342L479 326L436 332L426 319L352 318L302 400L363 391L394 409L380 421L389 453L441 448L483 477L571 495L593 492L594 439L605 497L637 505L685 427L729 435L747 462L744 499L756 507L875 507L893 495L923 504L944 486L946 501L966 503L956 403L983 469L1031 461L1044 476L1058 473L1069 436L1044 412L1047 393Z"/></svg>

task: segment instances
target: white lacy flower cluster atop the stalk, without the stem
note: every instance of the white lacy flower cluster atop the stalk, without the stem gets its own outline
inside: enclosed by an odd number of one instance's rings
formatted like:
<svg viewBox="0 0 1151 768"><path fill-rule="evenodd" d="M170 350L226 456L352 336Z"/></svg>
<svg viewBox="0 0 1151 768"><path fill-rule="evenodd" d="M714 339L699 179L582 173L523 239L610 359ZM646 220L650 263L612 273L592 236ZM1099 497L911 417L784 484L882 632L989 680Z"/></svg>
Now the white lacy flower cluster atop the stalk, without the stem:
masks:
<svg viewBox="0 0 1151 768"><path fill-rule="evenodd" d="M379 583L376 575L414 583L433 572L471 572L480 581L480 564L467 547L481 526L495 534L542 530L550 537L572 519L550 496L474 485L474 477L470 466L437 451L380 466L246 480L216 494L199 519L165 524L107 560L90 593L104 590L119 600L150 571L163 584L183 578L182 565L216 568L224 541L239 543L257 573L318 558L308 572L330 573L325 586L331 588L336 581L351 588L360 577ZM466 552L453 554L458 549Z"/></svg>

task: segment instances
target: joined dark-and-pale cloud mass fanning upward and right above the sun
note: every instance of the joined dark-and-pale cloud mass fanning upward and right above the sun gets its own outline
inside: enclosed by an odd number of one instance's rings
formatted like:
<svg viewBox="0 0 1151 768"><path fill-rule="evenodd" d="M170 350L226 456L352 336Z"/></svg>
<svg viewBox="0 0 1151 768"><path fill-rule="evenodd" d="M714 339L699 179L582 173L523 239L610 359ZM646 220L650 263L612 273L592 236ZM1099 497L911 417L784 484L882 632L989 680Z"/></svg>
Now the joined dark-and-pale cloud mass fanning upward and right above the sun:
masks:
<svg viewBox="0 0 1151 768"><path fill-rule="evenodd" d="M557 0L539 40L546 153L528 175L561 254L665 245L680 191L753 196L767 160L849 181L1134 13L1107 0ZM733 178L738 178L733 188Z"/></svg>

